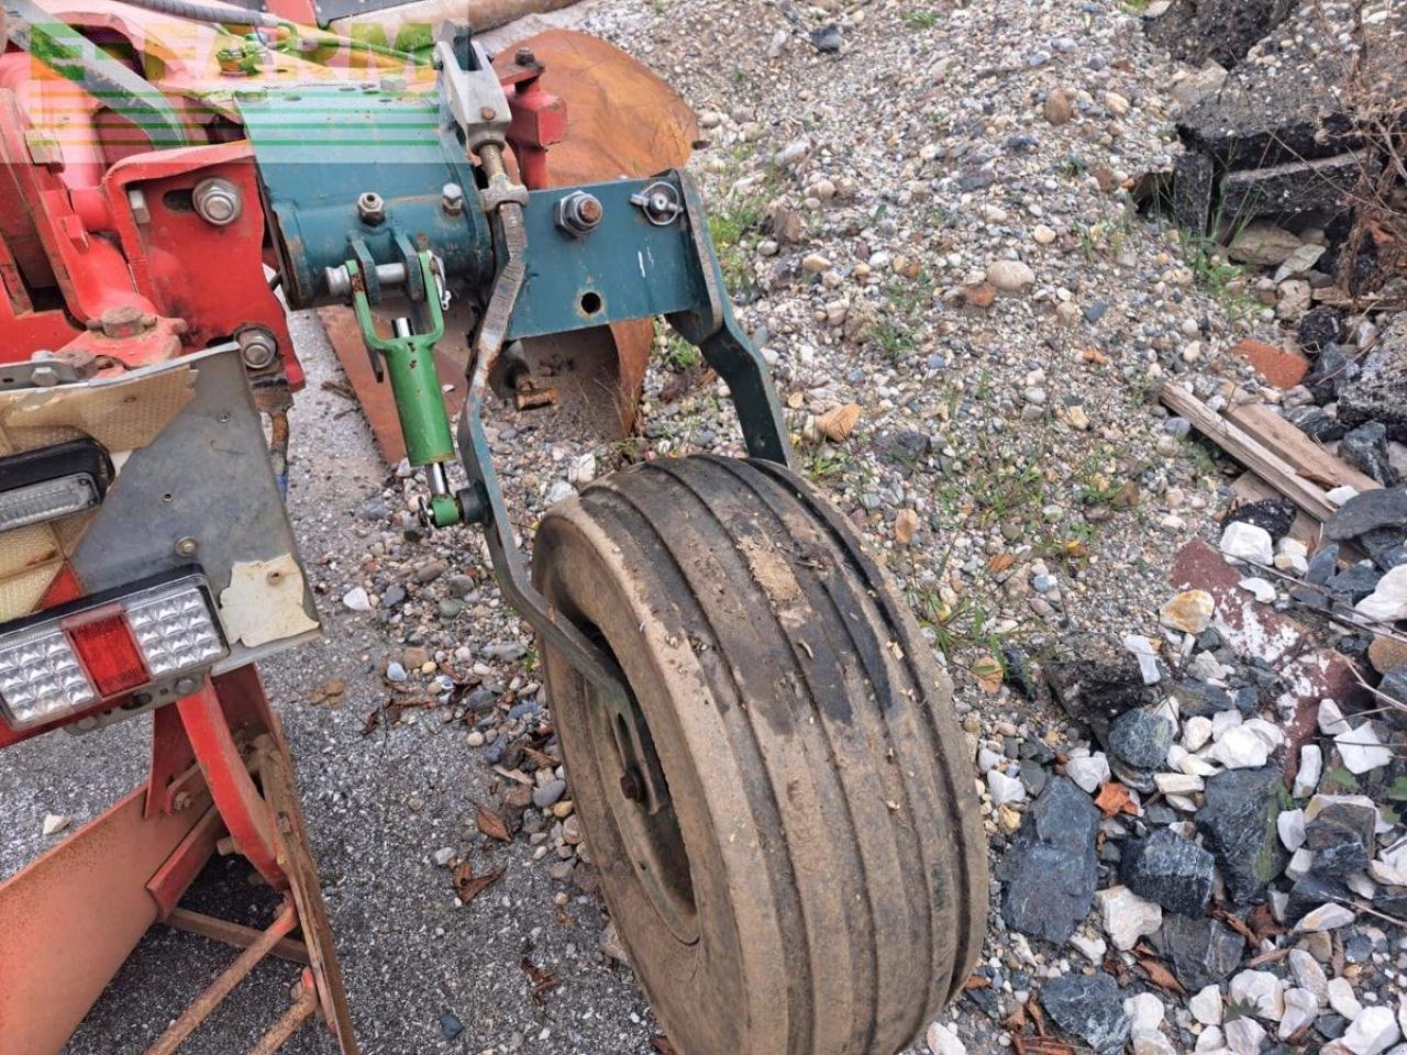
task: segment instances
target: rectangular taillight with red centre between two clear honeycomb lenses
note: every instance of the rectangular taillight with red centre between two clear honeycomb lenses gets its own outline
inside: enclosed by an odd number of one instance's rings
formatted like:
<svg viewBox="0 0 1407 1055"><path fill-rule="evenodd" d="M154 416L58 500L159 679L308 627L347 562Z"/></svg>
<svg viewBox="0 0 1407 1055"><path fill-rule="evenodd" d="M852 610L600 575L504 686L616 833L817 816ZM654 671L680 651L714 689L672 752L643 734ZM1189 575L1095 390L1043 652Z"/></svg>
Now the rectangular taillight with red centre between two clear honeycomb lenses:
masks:
<svg viewBox="0 0 1407 1055"><path fill-rule="evenodd" d="M55 722L228 651L203 575L144 580L0 627L0 708L15 729Z"/></svg>

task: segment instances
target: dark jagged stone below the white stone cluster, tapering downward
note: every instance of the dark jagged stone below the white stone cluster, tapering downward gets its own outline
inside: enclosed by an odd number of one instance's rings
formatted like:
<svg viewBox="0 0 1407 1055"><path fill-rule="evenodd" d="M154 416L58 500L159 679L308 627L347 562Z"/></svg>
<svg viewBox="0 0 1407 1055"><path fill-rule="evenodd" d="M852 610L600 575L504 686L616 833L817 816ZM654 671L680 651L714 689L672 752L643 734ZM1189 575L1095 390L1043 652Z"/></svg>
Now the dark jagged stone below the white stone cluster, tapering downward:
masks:
<svg viewBox="0 0 1407 1055"><path fill-rule="evenodd" d="M1275 767L1228 769L1207 781L1197 830L1216 855L1233 902L1261 902L1265 888L1285 871L1287 855L1276 819L1289 795Z"/></svg>

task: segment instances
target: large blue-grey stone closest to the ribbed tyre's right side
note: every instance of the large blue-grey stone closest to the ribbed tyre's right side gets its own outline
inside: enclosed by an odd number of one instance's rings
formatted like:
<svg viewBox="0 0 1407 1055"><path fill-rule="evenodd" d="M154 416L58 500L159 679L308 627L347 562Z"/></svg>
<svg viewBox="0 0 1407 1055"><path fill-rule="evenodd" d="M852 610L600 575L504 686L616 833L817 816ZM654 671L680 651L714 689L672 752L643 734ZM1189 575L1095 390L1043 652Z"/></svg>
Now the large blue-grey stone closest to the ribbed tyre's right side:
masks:
<svg viewBox="0 0 1407 1055"><path fill-rule="evenodd" d="M1007 926L1057 945L1069 941L1095 900L1099 816L1071 781L1051 778L996 868Z"/></svg>

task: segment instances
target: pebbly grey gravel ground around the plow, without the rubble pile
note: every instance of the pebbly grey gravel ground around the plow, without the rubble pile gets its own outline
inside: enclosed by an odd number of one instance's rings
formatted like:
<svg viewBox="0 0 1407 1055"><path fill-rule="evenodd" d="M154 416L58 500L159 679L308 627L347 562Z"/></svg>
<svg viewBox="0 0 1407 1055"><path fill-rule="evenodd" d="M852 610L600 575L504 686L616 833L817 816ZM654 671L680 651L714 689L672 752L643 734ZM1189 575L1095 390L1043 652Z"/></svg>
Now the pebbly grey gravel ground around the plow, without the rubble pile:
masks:
<svg viewBox="0 0 1407 1055"><path fill-rule="evenodd" d="M1054 715L993 684L991 657L1040 656L1072 632L1157 634L1171 556L1211 533L1223 494L1213 461L1165 428L1151 394L1195 370L1255 391L1224 353L1273 329L1273 309L1266 318L1238 290L1200 283L1128 205L1135 177L1166 169L1176 149L1165 94L1176 69L1134 15L1095 0L744 7L601 0L578 14L701 111L709 143L695 169L802 467L898 574L954 671L974 750L1058 738ZM839 52L822 49L837 38ZM319 388L339 370L315 324L297 322L310 385L294 415L290 508L326 637L265 672L298 760L363 1049L650 1052L649 1010L601 952L605 920L580 889L563 826L529 810L530 838L507 847L474 829L492 792L485 755L536 720L528 636L487 585L476 536L405 536L416 482L387 473L360 416ZM736 452L716 381L685 349L660 350L633 442L498 423L501 475L525 526L620 460ZM837 421L855 416L853 429ZM363 608L359 589L369 612L345 602L353 594ZM397 689L447 695L433 681L446 670L473 671L488 713L473 698L384 710ZM338 679L345 693L315 702ZM514 701L528 713L494 710ZM381 720L364 733L373 713ZM46 812L80 823L139 778L145 726L0 755L0 816L13 819L0 874L42 847ZM996 836L999 814L983 810ZM433 862L440 848L505 876L459 907ZM228 865L211 871L224 910L255 910L257 893ZM988 952L1012 969L1033 962L1005 935ZM135 1049L225 955L149 935L69 1052ZM561 982L542 1006L525 958ZM287 980L263 968L204 1034L222 1040L189 1051L252 1042ZM954 1028L972 1051L999 1042L971 1003ZM290 1051L331 1045L308 1034Z"/></svg>

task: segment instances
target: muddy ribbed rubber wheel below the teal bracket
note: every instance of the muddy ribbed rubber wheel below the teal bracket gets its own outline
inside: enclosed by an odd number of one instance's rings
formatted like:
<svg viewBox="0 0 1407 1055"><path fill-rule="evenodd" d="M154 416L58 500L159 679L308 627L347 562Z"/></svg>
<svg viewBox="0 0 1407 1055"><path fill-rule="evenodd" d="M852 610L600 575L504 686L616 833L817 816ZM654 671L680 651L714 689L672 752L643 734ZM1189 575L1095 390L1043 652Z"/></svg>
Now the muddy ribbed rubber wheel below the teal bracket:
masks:
<svg viewBox="0 0 1407 1055"><path fill-rule="evenodd" d="M947 679L892 581L765 461L661 460L552 509L545 647L601 888L681 1055L892 1055L985 931L986 838Z"/></svg>

